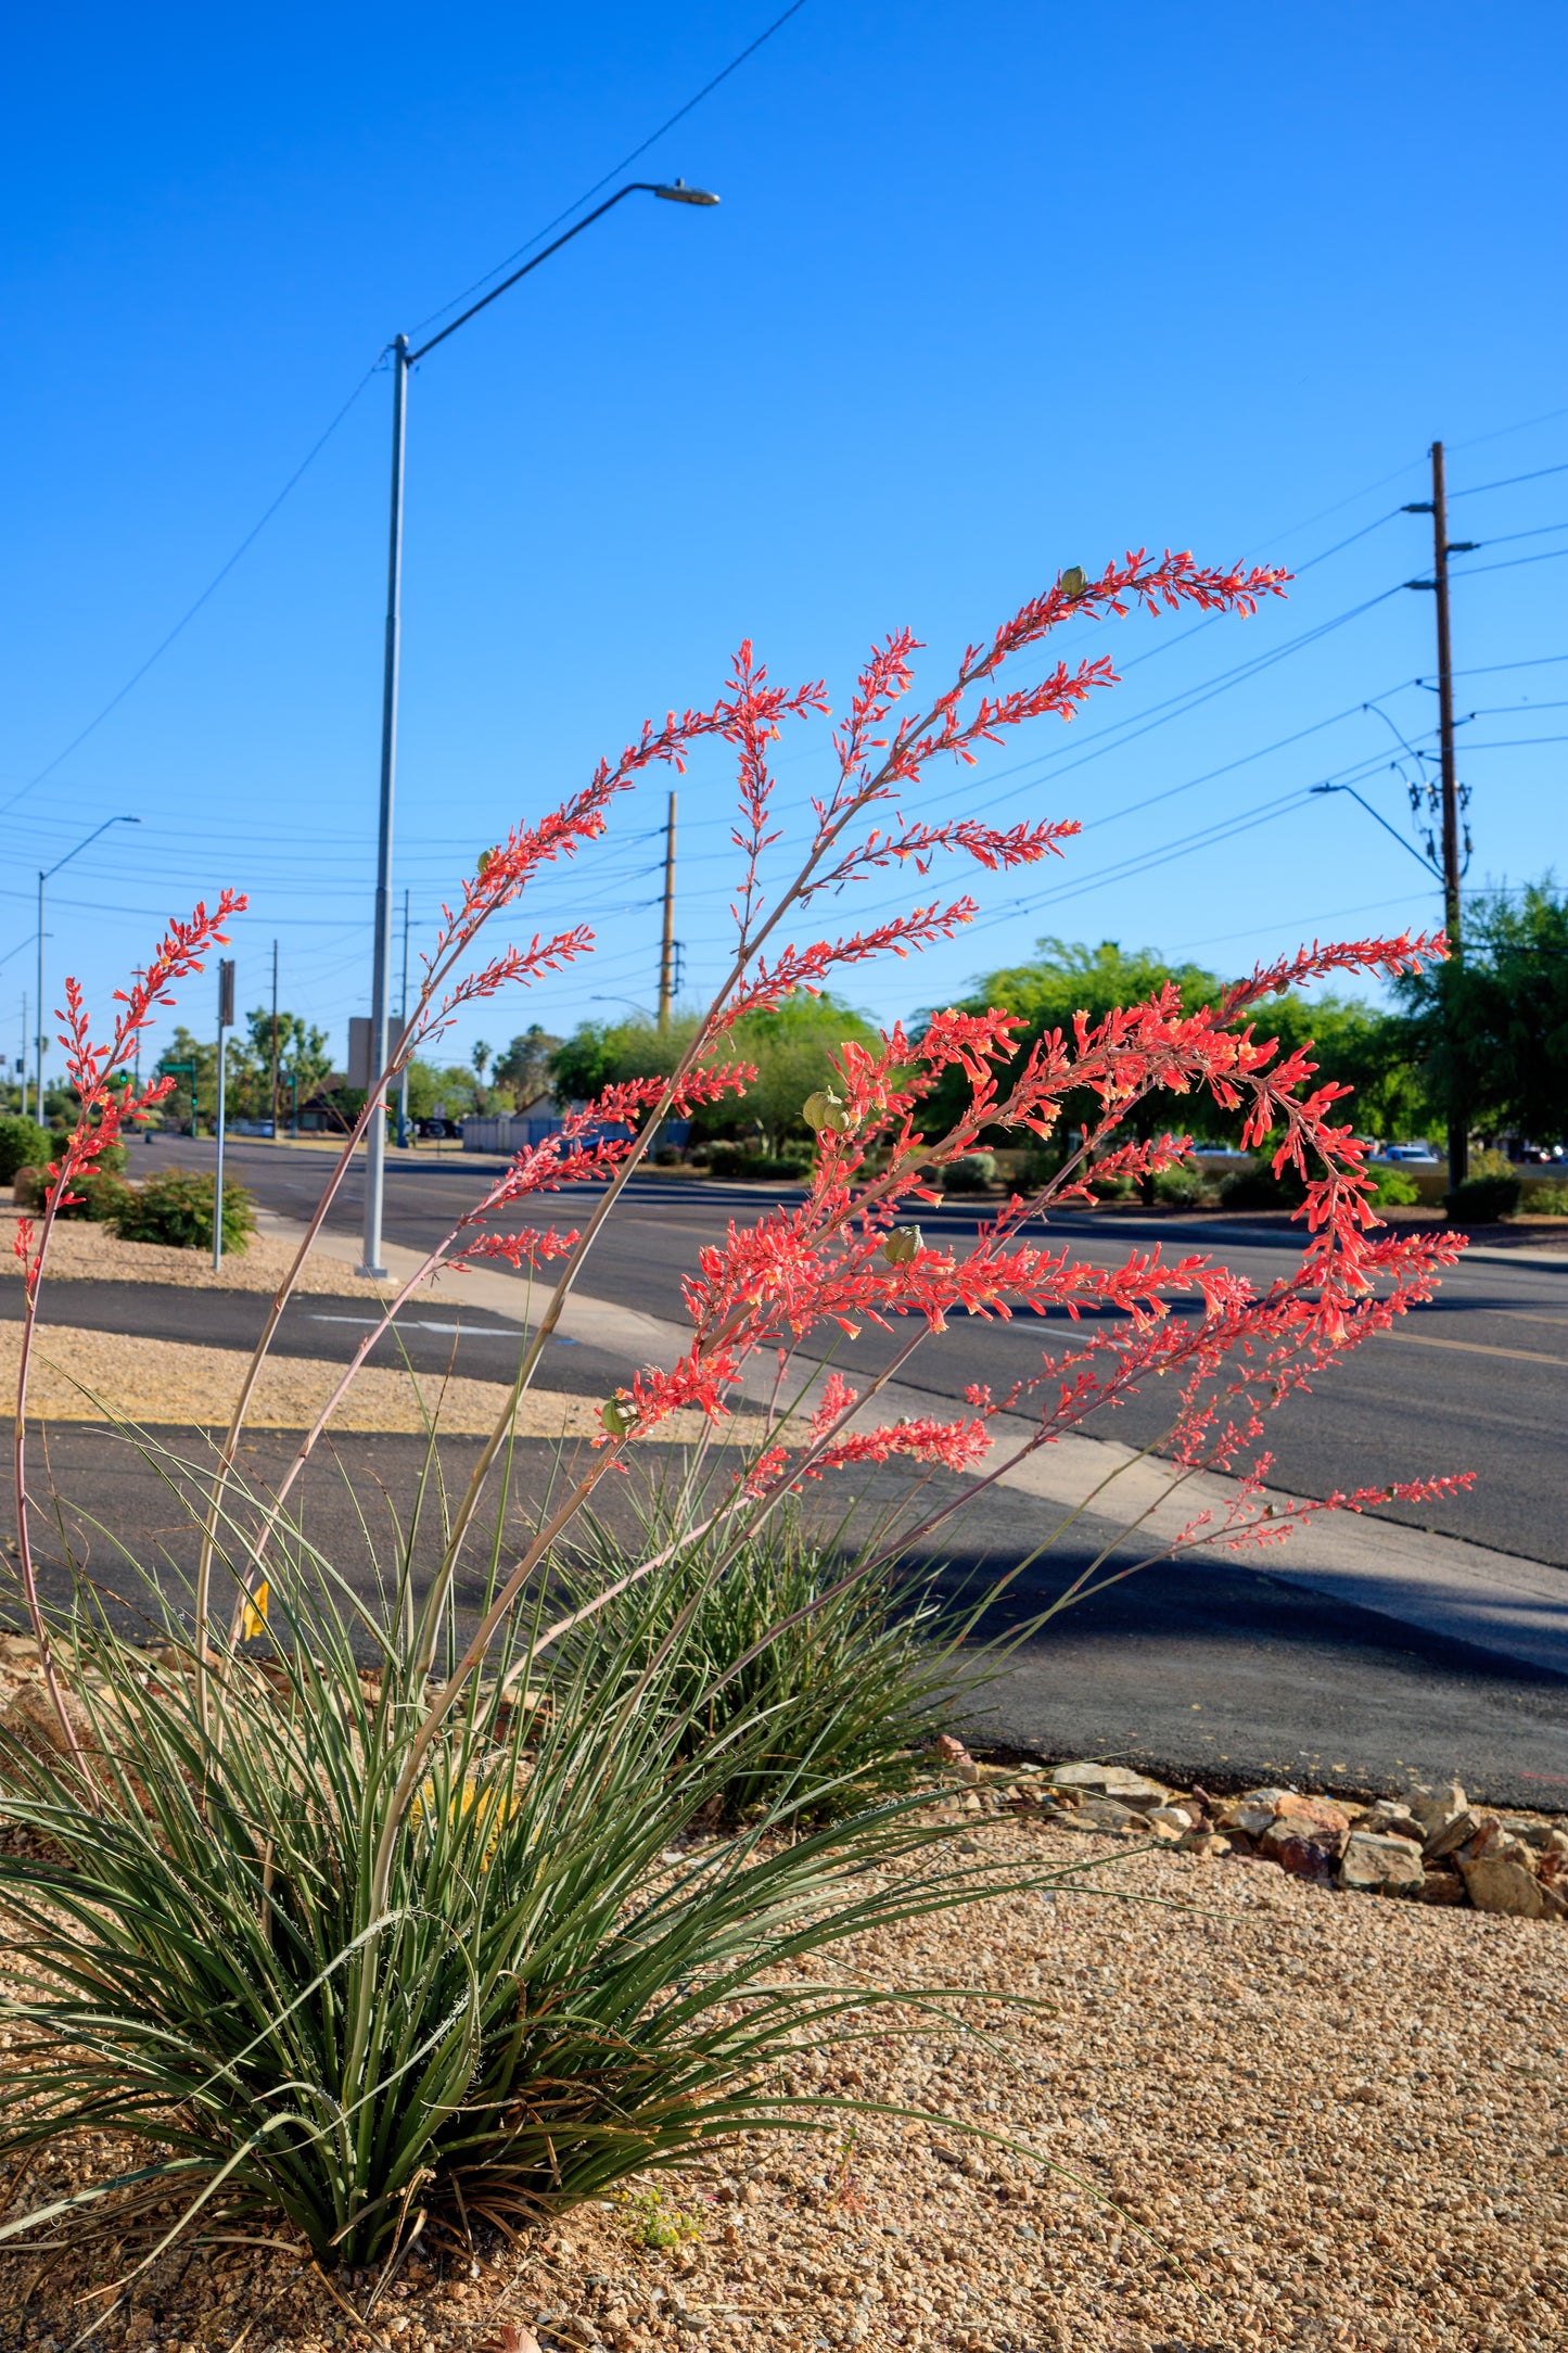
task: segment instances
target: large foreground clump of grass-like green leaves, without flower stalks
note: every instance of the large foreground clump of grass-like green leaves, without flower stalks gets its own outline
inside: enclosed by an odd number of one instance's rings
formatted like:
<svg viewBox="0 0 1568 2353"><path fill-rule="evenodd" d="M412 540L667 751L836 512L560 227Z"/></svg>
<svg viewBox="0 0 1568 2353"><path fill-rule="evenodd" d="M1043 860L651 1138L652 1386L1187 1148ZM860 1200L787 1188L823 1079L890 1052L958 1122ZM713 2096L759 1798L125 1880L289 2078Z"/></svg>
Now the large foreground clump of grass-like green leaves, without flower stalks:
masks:
<svg viewBox="0 0 1568 2353"><path fill-rule="evenodd" d="M395 1645L364 1673L327 1586L296 1640L226 1659L207 1725L195 1673L146 1673L78 1619L82 1765L42 1732L5 1739L7 1814L59 1852L0 1852L24 1927L0 2014L28 2028L0 2148L120 2137L115 2233L179 2191L183 2219L282 2214L317 2261L360 2266L421 2212L520 2226L736 2129L799 2125L769 2061L875 1995L797 1965L990 1885L952 1849L867 1882L947 1833L910 1800L844 1819L837 1760L780 1777L766 1708L726 1699L710 1737L705 1673L677 1647L649 1657L656 1602L588 1621L543 1706L503 1678L473 1689L376 1894L423 1678ZM672 1857L769 1769L790 1814L835 1826L780 1838L759 1807Z"/></svg>

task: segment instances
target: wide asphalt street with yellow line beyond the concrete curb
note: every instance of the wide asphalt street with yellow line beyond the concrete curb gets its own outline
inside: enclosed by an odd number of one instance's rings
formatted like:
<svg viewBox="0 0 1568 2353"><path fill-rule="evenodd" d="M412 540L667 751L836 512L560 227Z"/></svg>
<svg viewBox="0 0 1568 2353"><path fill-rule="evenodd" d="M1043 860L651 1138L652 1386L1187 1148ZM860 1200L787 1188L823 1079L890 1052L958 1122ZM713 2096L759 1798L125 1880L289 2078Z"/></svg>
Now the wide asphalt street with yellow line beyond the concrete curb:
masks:
<svg viewBox="0 0 1568 2353"><path fill-rule="evenodd" d="M146 1158L153 1165L179 1158L209 1167L212 1144L160 1139L146 1146ZM266 1207L306 1217L331 1155L240 1141L230 1146L230 1165ZM386 1191L388 1240L430 1247L473 1200L484 1181L482 1172L484 1162L456 1151L442 1160L430 1155L393 1165ZM353 1169L331 1214L339 1231L357 1233L360 1198L360 1169ZM693 1266L701 1242L719 1240L729 1217L755 1217L764 1207L762 1188L712 1193L703 1184L632 1184L595 1249L583 1289L679 1322L679 1278ZM562 1195L543 1205L541 1221L543 1217L562 1219ZM952 1233L954 1240L973 1231L973 1209L943 1205L922 1212L926 1231ZM1060 1217L1051 1221L1051 1233L1070 1235L1086 1257L1103 1264L1152 1240L1161 1240L1173 1254L1208 1249L1258 1285L1269 1282L1300 1249L1300 1233L1291 1228L1255 1228L1246 1240L1220 1240L1201 1221L1180 1219ZM961 1400L973 1381L987 1381L1001 1393L1037 1374L1041 1353L1067 1332L1065 1318L1041 1322L1023 1315L1011 1325L954 1320L940 1339L917 1351L900 1379L905 1386L929 1388L933 1407ZM816 1351L832 1353L849 1374L867 1374L886 1362L889 1341L872 1327L858 1341L830 1344L823 1337ZM1267 1433L1276 1457L1272 1482L1295 1494L1328 1494L1335 1487L1474 1471L1476 1485L1467 1497L1420 1508L1392 1504L1385 1515L1568 1567L1566 1424L1568 1257L1561 1268L1497 1259L1460 1264L1432 1306L1408 1315L1396 1334L1371 1339L1312 1395L1293 1398L1274 1417ZM1164 1426L1159 1384L1145 1398L1086 1424L1091 1433L1131 1445L1157 1440Z"/></svg>

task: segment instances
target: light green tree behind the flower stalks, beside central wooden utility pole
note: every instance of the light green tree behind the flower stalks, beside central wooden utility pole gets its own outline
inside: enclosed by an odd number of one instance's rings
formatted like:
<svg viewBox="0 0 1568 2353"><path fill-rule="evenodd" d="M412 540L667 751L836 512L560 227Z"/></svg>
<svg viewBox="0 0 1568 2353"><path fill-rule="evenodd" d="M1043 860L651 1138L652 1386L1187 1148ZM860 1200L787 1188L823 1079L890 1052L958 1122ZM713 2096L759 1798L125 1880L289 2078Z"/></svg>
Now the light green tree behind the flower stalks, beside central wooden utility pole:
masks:
<svg viewBox="0 0 1568 2353"><path fill-rule="evenodd" d="M696 1019L675 1016L668 1031L651 1021L583 1021L550 1059L559 1101L581 1104L625 1078L658 1078L677 1066ZM762 1144L776 1153L790 1139L809 1134L802 1106L832 1075L830 1056L853 1038L877 1045L877 1031L837 998L785 998L771 1014L745 1014L724 1040L717 1061L750 1061L757 1080L745 1099L729 1096L693 1120L698 1136L741 1136L762 1129Z"/></svg>

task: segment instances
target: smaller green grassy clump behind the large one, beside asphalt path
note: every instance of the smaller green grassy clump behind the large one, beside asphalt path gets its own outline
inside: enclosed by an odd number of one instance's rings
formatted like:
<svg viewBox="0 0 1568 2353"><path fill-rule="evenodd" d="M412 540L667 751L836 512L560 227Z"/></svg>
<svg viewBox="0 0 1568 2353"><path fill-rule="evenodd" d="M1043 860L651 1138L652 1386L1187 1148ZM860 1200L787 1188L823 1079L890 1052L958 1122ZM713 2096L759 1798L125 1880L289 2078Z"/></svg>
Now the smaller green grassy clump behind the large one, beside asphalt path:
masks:
<svg viewBox="0 0 1568 2353"><path fill-rule="evenodd" d="M827 1821L929 1779L924 1751L992 1671L985 1649L964 1647L976 1607L938 1600L929 1574L872 1565L870 1546L846 1555L790 1506L738 1544L715 1529L677 1546L663 1501L642 1534L661 1567L604 1614L628 1673L668 1657L682 1753L719 1744L715 1819ZM567 1591L597 1593L632 1558L595 1527Z"/></svg>

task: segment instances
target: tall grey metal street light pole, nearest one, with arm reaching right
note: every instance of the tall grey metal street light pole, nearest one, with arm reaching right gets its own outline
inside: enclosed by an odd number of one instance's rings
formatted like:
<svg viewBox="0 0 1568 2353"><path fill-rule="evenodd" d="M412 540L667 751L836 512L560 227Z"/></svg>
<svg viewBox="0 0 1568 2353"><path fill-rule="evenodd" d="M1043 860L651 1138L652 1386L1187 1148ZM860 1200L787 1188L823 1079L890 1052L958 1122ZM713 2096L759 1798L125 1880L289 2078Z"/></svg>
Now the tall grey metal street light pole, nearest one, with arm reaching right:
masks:
<svg viewBox="0 0 1568 2353"><path fill-rule="evenodd" d="M543 254L534 254L524 261L520 271L503 278L498 287L482 294L480 301L461 311L449 327L433 334L428 344L416 351L409 348L407 334L400 334L390 344L393 358L393 506L388 525L388 584L386 584L386 654L381 668L381 828L376 835L376 944L371 955L371 1000L369 1000L369 1068L371 1087L376 1087L381 1073L388 1064L388 984L393 972L393 807L397 798L397 661L402 654L402 489L404 489L404 440L407 440L407 405L409 405L409 369L425 353L444 344L447 336L465 327L470 318L487 311L508 287L515 287L520 278L536 271L541 261L557 254L562 245L571 245L581 238L585 228L604 219L614 205L628 195L661 195L672 205L717 205L717 195L708 188L689 188L682 179L656 181L656 179L632 179L625 188L616 188L607 195L590 214L585 214L576 228L569 228L552 245L545 245ZM40 915L42 922L42 915ZM386 1278L381 1264L381 1209L386 1198L386 1104L376 1096L369 1127L364 1132L364 1235L360 1245L360 1273L374 1280Z"/></svg>

